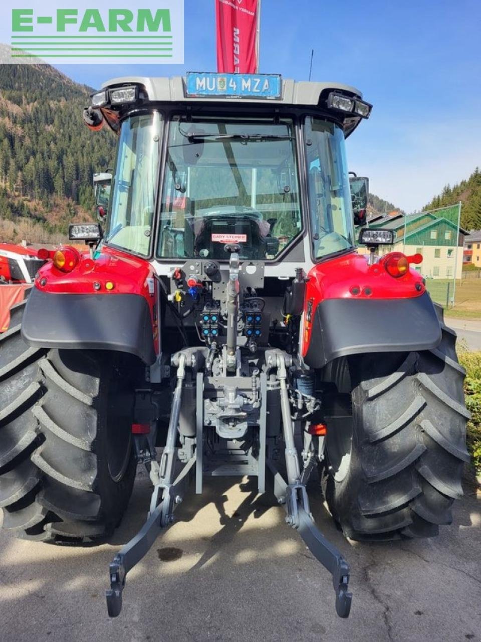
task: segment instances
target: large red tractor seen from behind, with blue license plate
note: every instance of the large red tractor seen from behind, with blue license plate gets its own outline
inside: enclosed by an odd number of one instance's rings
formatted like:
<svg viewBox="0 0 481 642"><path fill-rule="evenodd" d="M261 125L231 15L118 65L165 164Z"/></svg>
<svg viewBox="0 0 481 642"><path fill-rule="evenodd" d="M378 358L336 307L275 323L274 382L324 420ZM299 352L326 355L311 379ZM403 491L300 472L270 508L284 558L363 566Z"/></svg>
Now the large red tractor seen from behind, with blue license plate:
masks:
<svg viewBox="0 0 481 642"><path fill-rule="evenodd" d="M118 136L105 232L71 225L91 252L55 252L0 338L0 506L21 537L101 541L146 465L151 507L110 564L111 616L207 476L273 490L342 617L350 568L312 519L314 469L351 539L451 522L464 370L419 257L380 258L391 232L368 229L357 253L344 139L370 111L353 87L262 74L92 95L85 121Z"/></svg>

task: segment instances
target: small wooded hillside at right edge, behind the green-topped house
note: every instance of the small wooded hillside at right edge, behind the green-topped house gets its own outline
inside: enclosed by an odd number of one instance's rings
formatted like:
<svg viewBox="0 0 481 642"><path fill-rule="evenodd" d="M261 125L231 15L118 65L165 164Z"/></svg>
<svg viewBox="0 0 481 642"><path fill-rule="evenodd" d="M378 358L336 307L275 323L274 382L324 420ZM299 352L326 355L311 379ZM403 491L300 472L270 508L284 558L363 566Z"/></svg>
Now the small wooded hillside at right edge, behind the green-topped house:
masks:
<svg viewBox="0 0 481 642"><path fill-rule="evenodd" d="M454 205L461 201L461 227L465 230L481 229L481 171L476 168L466 180L450 187L446 185L441 194L423 207L435 209Z"/></svg>

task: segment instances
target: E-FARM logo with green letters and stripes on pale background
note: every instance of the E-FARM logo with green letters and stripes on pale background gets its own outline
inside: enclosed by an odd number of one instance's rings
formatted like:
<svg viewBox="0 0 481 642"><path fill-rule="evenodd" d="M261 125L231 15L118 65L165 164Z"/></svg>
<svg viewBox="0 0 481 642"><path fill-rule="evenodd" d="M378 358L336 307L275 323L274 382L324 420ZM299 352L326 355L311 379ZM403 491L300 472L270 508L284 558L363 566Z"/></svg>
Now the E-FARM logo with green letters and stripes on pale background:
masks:
<svg viewBox="0 0 481 642"><path fill-rule="evenodd" d="M35 4L10 8L8 62L183 63L183 0L135 9L98 1L94 7Z"/></svg>

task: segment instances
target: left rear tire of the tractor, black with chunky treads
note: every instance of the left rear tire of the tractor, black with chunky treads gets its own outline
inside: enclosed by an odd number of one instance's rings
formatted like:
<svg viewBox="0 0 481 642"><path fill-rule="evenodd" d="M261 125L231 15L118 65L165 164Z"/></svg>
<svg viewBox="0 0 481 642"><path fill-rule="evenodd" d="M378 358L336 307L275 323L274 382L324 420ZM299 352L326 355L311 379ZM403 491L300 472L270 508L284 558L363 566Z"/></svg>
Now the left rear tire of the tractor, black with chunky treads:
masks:
<svg viewBox="0 0 481 642"><path fill-rule="evenodd" d="M3 528L92 542L112 533L130 499L133 390L116 353L26 345L24 305L0 335Z"/></svg>

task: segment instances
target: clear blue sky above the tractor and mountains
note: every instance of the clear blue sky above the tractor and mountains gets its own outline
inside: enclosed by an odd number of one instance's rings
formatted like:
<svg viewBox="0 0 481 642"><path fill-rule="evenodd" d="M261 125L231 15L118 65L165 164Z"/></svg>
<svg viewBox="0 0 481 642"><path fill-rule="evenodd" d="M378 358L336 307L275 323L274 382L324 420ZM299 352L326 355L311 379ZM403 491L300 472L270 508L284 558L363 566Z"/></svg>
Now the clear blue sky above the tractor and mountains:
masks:
<svg viewBox="0 0 481 642"><path fill-rule="evenodd" d="M262 0L260 71L354 85L373 103L350 169L407 211L481 166L479 0ZM214 0L185 0L184 65L57 65L99 87L123 75L215 71Z"/></svg>

